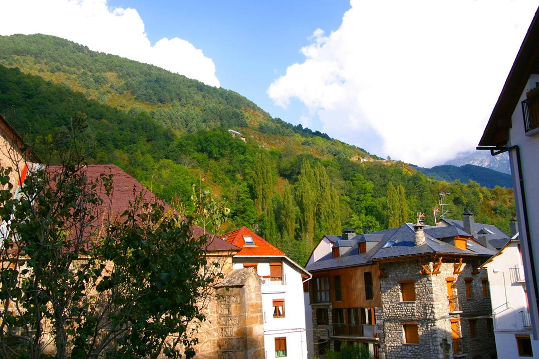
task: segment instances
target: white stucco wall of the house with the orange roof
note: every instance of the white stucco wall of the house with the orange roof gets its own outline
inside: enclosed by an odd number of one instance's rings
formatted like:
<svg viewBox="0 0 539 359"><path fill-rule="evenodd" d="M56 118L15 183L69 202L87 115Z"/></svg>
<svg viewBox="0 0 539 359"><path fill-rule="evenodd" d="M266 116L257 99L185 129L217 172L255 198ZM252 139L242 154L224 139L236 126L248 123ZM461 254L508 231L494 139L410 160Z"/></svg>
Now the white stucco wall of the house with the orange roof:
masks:
<svg viewBox="0 0 539 359"><path fill-rule="evenodd" d="M286 284L262 284L262 310L264 311L264 344L266 358L275 358L275 338L286 337L287 359L307 359L307 336L302 272L287 259L274 257L234 257L233 268L243 268L243 263L258 263L258 275L269 275L269 263L282 261ZM285 316L273 317L273 300L285 300Z"/></svg>

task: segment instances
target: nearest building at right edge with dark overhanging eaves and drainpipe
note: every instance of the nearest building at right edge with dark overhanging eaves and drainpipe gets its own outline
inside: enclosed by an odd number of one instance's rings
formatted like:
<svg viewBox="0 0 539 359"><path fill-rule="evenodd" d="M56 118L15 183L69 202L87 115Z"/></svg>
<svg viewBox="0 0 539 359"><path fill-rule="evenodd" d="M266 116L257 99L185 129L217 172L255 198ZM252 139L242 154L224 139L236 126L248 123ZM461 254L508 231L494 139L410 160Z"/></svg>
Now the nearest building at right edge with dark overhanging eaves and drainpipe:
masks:
<svg viewBox="0 0 539 359"><path fill-rule="evenodd" d="M539 339L539 19L537 12L478 149L508 151L534 339ZM500 356L502 357L502 356Z"/></svg>

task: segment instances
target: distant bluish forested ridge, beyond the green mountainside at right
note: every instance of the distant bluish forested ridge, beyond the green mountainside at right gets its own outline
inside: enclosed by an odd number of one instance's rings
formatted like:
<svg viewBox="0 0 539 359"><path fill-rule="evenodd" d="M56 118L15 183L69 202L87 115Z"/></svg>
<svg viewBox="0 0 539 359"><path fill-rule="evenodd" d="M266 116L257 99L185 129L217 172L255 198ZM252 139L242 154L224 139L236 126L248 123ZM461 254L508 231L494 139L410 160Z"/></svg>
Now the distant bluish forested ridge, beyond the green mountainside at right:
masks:
<svg viewBox="0 0 539 359"><path fill-rule="evenodd" d="M513 187L511 175L473 164L465 164L460 167L444 164L432 168L418 167L417 169L439 181L453 182L455 179L458 179L461 182L466 182L468 179L471 179L488 188L494 188L496 186L505 188Z"/></svg>

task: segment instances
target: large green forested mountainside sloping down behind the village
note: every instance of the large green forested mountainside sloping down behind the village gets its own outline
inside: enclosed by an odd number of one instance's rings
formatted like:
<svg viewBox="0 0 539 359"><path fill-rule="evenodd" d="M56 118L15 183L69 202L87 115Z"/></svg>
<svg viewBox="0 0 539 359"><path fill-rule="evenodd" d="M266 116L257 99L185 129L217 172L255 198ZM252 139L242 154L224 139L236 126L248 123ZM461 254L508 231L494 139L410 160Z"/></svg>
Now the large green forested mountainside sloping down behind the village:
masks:
<svg viewBox="0 0 539 359"><path fill-rule="evenodd" d="M89 163L115 163L189 208L203 180L247 225L303 263L324 233L413 221L448 193L448 217L508 229L513 192L440 182L326 134L271 118L253 102L155 66L45 35L0 37L0 113L50 163L71 124ZM246 142L226 132L246 135ZM358 161L368 158L368 161Z"/></svg>

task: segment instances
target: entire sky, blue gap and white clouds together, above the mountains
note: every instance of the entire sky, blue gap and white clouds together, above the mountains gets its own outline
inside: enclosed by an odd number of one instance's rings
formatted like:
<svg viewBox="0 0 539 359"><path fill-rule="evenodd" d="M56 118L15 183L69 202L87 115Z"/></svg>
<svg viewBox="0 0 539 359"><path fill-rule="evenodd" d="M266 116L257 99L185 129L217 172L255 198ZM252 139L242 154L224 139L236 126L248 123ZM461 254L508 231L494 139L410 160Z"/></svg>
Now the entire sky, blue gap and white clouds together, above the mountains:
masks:
<svg viewBox="0 0 539 359"><path fill-rule="evenodd" d="M45 33L239 92L274 117L432 167L473 151L539 0L3 0Z"/></svg>

